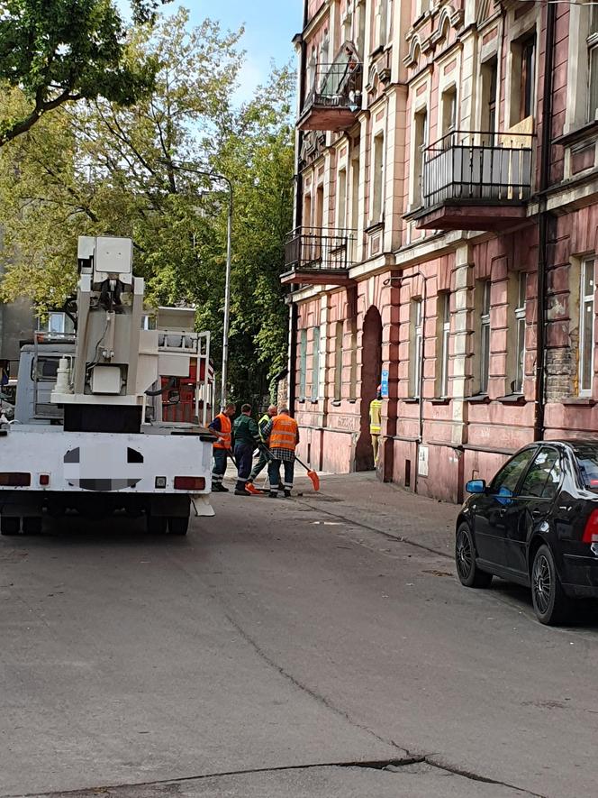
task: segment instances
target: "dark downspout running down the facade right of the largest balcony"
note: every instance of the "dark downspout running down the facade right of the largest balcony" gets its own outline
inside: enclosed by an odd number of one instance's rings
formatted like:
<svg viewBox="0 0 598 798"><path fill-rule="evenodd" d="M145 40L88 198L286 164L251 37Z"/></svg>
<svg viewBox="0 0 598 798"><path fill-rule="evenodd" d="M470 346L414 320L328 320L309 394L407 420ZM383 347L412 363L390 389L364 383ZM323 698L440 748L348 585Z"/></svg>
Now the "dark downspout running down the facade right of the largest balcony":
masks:
<svg viewBox="0 0 598 798"><path fill-rule="evenodd" d="M552 142L552 95L554 84L554 51L557 6L547 4L546 61L542 87L542 140L539 171L538 219L538 282L536 324L536 396L534 410L534 440L542 440L545 432L546 404L546 273L548 268L548 231L552 214L547 210L546 192L550 185L550 151Z"/></svg>

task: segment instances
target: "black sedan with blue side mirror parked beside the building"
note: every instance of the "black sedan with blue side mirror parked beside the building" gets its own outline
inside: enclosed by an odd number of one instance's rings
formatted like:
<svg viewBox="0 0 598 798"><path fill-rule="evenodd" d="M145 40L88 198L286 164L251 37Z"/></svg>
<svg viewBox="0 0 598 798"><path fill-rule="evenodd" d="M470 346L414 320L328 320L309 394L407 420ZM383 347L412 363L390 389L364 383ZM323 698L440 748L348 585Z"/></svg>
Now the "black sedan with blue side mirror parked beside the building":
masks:
<svg viewBox="0 0 598 798"><path fill-rule="evenodd" d="M486 485L467 482L457 520L457 573L467 587L493 576L531 588L542 623L570 619L598 597L598 440L540 441Z"/></svg>

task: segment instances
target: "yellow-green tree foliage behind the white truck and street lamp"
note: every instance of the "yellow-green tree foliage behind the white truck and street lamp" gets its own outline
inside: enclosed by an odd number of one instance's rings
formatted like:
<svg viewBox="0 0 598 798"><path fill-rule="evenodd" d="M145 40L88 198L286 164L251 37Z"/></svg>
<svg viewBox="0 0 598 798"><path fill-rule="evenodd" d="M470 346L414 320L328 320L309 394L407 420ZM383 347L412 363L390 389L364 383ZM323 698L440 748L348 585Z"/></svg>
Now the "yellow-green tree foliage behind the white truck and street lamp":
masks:
<svg viewBox="0 0 598 798"><path fill-rule="evenodd" d="M154 304L193 303L221 355L229 176L234 192L230 379L256 400L285 364L286 308L279 282L291 226L293 124L288 70L240 109L241 32L188 14L131 36L136 60L156 59L155 88L128 107L98 98L59 108L0 150L5 299L59 307L76 285L80 234L130 235L135 270ZM0 98L0 116L26 105Z"/></svg>

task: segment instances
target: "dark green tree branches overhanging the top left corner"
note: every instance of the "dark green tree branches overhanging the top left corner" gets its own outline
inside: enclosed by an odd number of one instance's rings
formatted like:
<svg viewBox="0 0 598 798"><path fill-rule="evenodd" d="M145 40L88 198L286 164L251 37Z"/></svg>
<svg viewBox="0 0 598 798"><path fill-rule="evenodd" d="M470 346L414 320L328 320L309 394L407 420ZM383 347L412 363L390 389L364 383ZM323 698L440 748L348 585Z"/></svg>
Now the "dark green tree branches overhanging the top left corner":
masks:
<svg viewBox="0 0 598 798"><path fill-rule="evenodd" d="M133 0L133 13L150 19L155 5ZM5 0L0 9L0 86L27 100L0 117L0 147L65 103L103 96L130 105L153 86L155 62L131 59L112 0Z"/></svg>

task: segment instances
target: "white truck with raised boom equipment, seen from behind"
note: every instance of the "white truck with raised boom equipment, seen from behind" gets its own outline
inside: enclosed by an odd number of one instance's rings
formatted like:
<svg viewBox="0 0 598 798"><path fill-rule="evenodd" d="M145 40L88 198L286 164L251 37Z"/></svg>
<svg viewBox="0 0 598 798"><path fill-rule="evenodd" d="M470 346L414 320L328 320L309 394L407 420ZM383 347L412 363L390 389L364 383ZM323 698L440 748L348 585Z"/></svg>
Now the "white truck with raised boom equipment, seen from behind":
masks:
<svg viewBox="0 0 598 798"><path fill-rule="evenodd" d="M130 239L80 237L78 268L75 335L23 347L14 420L0 413L0 532L124 511L185 535L192 508L213 515L210 335L193 308L144 307ZM181 382L191 420L163 420Z"/></svg>

